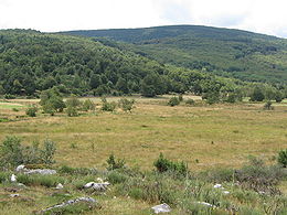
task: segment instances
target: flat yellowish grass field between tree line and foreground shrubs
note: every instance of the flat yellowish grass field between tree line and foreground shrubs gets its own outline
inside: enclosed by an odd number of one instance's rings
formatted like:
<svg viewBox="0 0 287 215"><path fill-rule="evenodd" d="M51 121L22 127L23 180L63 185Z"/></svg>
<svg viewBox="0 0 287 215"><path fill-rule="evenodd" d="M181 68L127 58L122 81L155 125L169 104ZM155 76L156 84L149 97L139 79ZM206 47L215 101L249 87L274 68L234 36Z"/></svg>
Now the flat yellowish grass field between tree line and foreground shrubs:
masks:
<svg viewBox="0 0 287 215"><path fill-rule="evenodd" d="M113 99L117 98L108 100ZM99 98L94 100L100 105ZM9 108L35 101L0 104L0 114L14 119L24 111ZM114 152L128 165L151 169L153 160L163 152L170 159L187 161L191 170L237 168L248 155L270 161L287 144L285 103L266 111L263 104L169 107L166 97L136 101L131 112L97 109L95 114L74 118L40 115L1 122L0 140L11 135L29 143L52 139L57 146L57 164L103 166Z"/></svg>

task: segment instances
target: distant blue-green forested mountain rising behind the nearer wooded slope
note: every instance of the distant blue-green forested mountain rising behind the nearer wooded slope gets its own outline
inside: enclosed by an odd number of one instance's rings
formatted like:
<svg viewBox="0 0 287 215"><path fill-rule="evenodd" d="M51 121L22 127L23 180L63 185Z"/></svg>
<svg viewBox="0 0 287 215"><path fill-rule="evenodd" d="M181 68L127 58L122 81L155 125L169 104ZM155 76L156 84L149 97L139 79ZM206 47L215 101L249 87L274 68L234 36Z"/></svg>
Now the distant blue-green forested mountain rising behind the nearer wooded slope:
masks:
<svg viewBox="0 0 287 215"><path fill-rule="evenodd" d="M199 25L62 33L96 37L164 64L251 82L287 83L286 39Z"/></svg>

